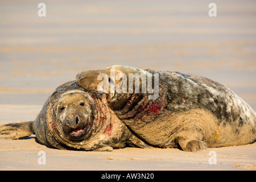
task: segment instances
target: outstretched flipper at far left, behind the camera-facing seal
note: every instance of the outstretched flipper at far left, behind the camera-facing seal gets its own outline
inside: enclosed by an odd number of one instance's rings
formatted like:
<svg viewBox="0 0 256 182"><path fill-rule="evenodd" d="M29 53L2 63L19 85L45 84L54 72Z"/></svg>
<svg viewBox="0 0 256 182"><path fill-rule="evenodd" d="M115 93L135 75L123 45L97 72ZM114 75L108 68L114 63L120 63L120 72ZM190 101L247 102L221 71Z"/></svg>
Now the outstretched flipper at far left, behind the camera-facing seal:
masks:
<svg viewBox="0 0 256 182"><path fill-rule="evenodd" d="M34 133L34 121L9 123L0 126L0 139L19 139L29 137Z"/></svg>

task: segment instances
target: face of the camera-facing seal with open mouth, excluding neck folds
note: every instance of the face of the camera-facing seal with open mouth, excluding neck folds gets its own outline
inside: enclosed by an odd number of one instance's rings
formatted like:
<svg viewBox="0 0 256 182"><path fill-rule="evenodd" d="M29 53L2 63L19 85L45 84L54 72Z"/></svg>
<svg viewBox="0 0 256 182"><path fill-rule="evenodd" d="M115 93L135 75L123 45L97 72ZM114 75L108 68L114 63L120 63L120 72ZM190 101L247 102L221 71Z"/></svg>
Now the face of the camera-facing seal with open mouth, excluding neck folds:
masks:
<svg viewBox="0 0 256 182"><path fill-rule="evenodd" d="M89 135L93 126L96 108L90 97L80 90L72 90L63 94L54 106L53 115L56 117L56 128L59 133L67 135L72 140L81 140Z"/></svg>

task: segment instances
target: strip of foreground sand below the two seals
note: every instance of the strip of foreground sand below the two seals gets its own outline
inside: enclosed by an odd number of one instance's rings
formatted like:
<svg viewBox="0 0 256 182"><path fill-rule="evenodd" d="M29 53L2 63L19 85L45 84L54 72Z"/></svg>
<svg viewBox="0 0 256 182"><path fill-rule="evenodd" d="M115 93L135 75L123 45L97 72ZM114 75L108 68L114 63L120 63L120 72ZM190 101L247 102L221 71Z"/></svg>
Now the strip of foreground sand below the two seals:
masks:
<svg viewBox="0 0 256 182"><path fill-rule="evenodd" d="M47 148L35 138L0 140L1 170L255 170L256 144L184 152L177 148L122 148L112 152ZM40 164L40 151L46 164ZM216 152L216 164L212 153ZM39 162L38 162L39 160ZM209 163L210 160L210 164Z"/></svg>

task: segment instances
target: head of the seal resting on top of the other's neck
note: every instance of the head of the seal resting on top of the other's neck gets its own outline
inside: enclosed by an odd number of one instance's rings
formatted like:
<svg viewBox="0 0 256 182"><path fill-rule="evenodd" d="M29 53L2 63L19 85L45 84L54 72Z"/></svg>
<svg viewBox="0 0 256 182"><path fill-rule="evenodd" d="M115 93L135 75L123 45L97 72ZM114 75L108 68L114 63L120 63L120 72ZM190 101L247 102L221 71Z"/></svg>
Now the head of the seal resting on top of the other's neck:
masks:
<svg viewBox="0 0 256 182"><path fill-rule="evenodd" d="M148 79L148 74L152 76L150 79ZM104 82L102 78L107 80L106 84L102 84ZM110 108L120 110L123 107L130 107L132 103L139 102L142 97L150 97L150 93L147 92L150 90L148 83L152 88L154 75L139 68L113 65L106 69L81 72L76 76L76 81L82 88L106 93ZM154 89L158 93L156 86L154 85Z"/></svg>

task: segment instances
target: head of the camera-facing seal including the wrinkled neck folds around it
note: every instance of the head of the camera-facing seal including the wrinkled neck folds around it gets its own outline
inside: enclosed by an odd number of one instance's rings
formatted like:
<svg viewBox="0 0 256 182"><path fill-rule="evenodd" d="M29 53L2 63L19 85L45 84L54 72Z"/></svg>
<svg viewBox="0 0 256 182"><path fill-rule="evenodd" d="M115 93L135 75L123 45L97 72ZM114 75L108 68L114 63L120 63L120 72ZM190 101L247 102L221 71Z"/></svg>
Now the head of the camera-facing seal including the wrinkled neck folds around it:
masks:
<svg viewBox="0 0 256 182"><path fill-rule="evenodd" d="M49 129L61 144L72 148L83 148L87 141L96 137L109 122L105 116L108 110L100 110L96 96L79 89L68 90L57 96L48 107ZM100 122L99 122L100 121Z"/></svg>

